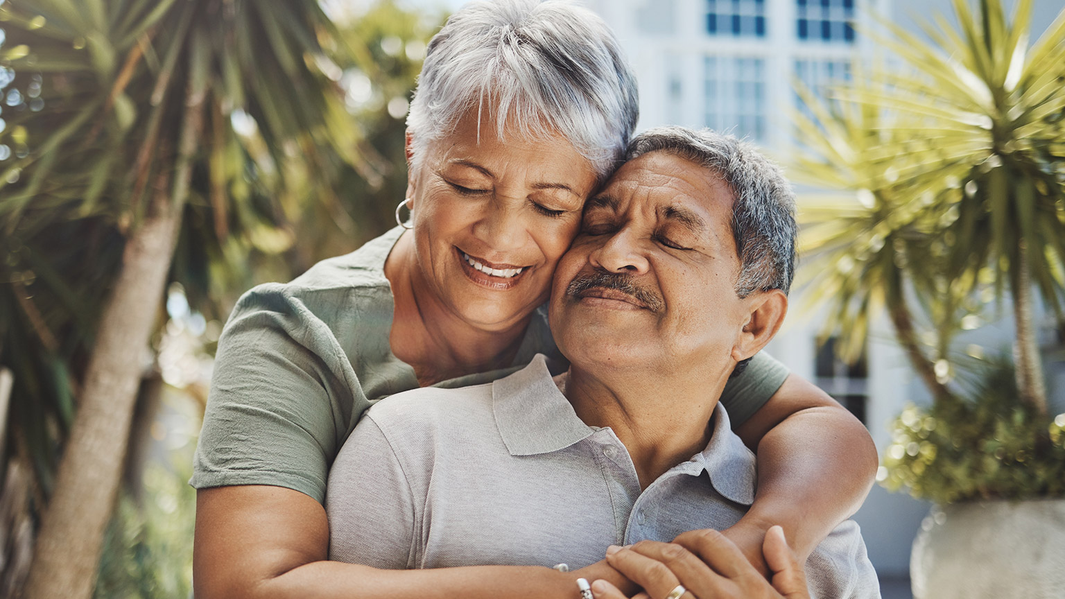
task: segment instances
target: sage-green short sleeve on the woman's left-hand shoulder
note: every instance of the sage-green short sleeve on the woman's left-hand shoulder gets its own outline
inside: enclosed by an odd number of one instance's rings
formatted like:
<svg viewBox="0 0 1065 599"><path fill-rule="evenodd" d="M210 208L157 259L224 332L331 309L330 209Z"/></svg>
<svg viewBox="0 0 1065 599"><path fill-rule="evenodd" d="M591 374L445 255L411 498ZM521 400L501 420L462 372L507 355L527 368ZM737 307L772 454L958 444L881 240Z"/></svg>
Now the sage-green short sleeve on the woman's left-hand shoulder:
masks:
<svg viewBox="0 0 1065 599"><path fill-rule="evenodd" d="M329 327L290 287L260 286L218 341L190 483L281 486L323 502L329 465L368 406Z"/></svg>

